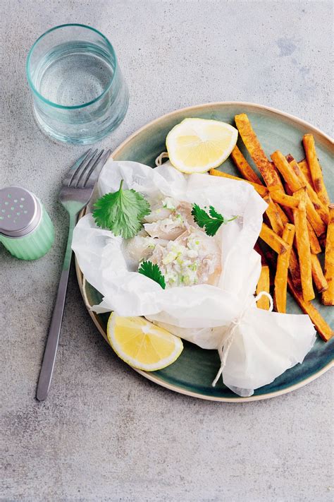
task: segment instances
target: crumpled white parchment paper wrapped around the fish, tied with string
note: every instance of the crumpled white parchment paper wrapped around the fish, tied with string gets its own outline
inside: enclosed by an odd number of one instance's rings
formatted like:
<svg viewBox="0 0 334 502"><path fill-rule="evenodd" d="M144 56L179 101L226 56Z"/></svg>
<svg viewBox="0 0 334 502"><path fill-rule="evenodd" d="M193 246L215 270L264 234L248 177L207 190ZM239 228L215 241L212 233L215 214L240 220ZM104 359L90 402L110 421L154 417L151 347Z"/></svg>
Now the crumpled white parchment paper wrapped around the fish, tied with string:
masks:
<svg viewBox="0 0 334 502"><path fill-rule="evenodd" d="M238 218L222 225L214 237L222 249L218 286L162 289L132 270L123 239L97 227L87 214L75 227L72 247L87 281L104 296L93 310L145 316L204 349L222 347L234 326L223 382L239 395L252 395L302 362L316 334L309 316L264 311L254 302L261 271L254 244L266 203L253 187L206 174L186 176L169 163L151 169L109 160L99 177L99 194L117 191L121 179L123 189L135 189L148 199L170 196L201 207L214 205L224 217Z"/></svg>

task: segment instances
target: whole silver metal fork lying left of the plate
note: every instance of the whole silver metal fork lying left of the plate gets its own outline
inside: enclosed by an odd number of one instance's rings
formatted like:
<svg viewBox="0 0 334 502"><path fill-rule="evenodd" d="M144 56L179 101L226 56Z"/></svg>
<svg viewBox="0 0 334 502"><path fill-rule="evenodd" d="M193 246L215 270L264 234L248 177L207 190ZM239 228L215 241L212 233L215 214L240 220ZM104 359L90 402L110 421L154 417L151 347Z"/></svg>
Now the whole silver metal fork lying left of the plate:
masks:
<svg viewBox="0 0 334 502"><path fill-rule="evenodd" d="M47 398L49 386L51 383L52 372L54 371L54 361L58 347L59 334L61 332L61 322L63 320L63 310L66 299L66 290L68 285L68 275L70 272L70 262L72 258L72 238L75 223L78 220L78 213L89 203L94 190L95 183L99 177L99 172L108 160L111 150L98 152L89 149L85 155L75 162L66 174L63 186L59 193L59 200L70 215L70 225L68 229L68 241L66 246L65 258L63 261L63 270L59 281L56 304L52 314L47 345L45 346L42 368L39 373L36 398L44 401Z"/></svg>

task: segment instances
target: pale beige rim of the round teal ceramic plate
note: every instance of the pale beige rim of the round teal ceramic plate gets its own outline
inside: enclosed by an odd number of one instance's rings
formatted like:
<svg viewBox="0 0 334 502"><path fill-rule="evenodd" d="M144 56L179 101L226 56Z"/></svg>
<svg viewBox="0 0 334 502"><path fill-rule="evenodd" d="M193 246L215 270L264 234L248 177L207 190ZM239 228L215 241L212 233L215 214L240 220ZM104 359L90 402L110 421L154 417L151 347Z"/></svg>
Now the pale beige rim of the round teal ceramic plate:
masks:
<svg viewBox="0 0 334 502"><path fill-rule="evenodd" d="M113 152L111 153L111 157L113 157L114 155L118 155L123 150L125 145L128 145L128 143L130 141L132 141L133 138L135 138L138 134L142 133L142 131L147 129L149 126L153 126L157 122L161 121L161 119L173 117L173 115L177 115L180 112L188 112L192 109L205 109L205 108L214 107L217 105L218 106L221 106L221 105L223 105L223 106L230 106L230 105L233 106L234 105L235 106L235 105L237 105L237 106L253 107L254 109L262 109L262 110L266 110L268 112L272 112L274 114L278 114L280 116L285 116L285 118L290 119L292 121L295 121L299 125L305 126L309 129L311 129L312 131L316 131L316 133L318 133L320 136L322 136L326 141L329 141L330 143L334 144L333 139L330 138L330 136L328 136L328 134L321 131L321 129L318 129L316 126L309 124L309 122L305 121L304 119L299 119L299 117L292 115L292 114L289 114L287 112L282 112L279 109L267 107L265 105L256 104L256 103L252 103L252 102L218 101L218 102L195 104L190 107L179 108L179 109L173 110L173 112L168 112L166 114L163 114L163 115L157 117L156 119L148 122L147 124L144 124L144 126L140 127L140 129L137 129L135 132L130 134L130 136L125 138L125 140L122 143L120 143L120 145L118 145L118 147L116 147L115 150L113 150ZM80 211L80 214L78 216L78 220L80 220L80 218L82 216L84 216L85 213L86 213L86 208L84 208L82 211ZM106 333L104 333L104 330L102 330L101 325L100 325L99 321L97 320L97 314L91 310L91 306L89 304L89 301L87 299L87 294L85 292L85 282L86 282L85 276L83 275L82 270L79 267L78 260L76 257L75 257L75 271L76 271L78 285L79 285L79 289L80 289L80 292L82 295L82 299L85 303L85 307L89 313L89 316L92 318L94 324L96 325L97 329L99 330L99 333L101 333L101 335L104 337L104 340L106 340L106 342L109 345L108 338L106 337ZM109 347L110 347L110 345L109 345ZM189 395L192 398L198 398L198 399L202 399L202 400L237 403L237 402L252 402L252 401L266 400L266 399L276 398L279 395L293 392L294 390L297 390L299 388L306 386L311 381L316 380L316 378L323 375L323 373L326 373L326 371L328 371L333 366L334 366L334 361L330 361L321 370L317 371L316 373L309 376L308 378L305 378L303 381L301 381L299 383L295 383L294 385L287 387L287 388L284 388L282 390L277 390L276 392L271 392L271 393L261 394L261 395L252 395L249 398L242 398L241 396L237 396L235 398L223 398L223 397L219 397L219 396L211 396L211 395L195 393L195 392L192 392L192 390L185 390L185 389L180 388L178 386L174 386L171 383L167 383L167 382L163 381L161 378L159 378L159 376L156 376L156 374L154 372L142 371L140 369L133 368L132 366L129 366L129 367L132 370L139 373L140 375L144 376L144 378L147 378L149 381L152 381L161 387L167 388L168 390L172 390L173 392L180 393L183 395Z"/></svg>

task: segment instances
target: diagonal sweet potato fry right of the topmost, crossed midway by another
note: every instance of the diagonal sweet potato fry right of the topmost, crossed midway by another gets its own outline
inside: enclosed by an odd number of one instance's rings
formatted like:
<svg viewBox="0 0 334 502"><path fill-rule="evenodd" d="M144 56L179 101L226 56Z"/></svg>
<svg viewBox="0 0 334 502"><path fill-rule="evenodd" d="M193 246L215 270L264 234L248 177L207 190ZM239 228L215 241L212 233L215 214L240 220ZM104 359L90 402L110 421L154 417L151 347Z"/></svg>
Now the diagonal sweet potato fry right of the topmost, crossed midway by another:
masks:
<svg viewBox="0 0 334 502"><path fill-rule="evenodd" d="M283 178L285 179L287 185L289 186L290 190L292 190L292 192L295 192L306 186L306 183L297 176L295 171L291 168L289 162L287 162L286 158L282 153L280 153L279 150L276 150L276 152L274 152L271 155L271 158L273 159L273 162L276 165L278 171L280 172L280 174L282 174ZM314 232L316 232L316 235L319 237L324 232L326 232L326 225L323 223L323 220L321 220L321 217L316 212L314 205L311 203L308 194L306 199L306 205L307 205L307 217L309 219L309 222L314 228Z"/></svg>

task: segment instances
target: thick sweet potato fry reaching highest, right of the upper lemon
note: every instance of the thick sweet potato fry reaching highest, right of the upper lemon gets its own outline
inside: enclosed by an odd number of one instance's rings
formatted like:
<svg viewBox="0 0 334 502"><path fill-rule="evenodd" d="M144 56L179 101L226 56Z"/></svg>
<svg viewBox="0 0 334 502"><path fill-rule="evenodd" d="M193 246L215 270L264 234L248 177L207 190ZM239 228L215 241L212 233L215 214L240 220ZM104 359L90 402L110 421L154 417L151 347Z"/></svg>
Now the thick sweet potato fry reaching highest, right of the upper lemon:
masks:
<svg viewBox="0 0 334 502"><path fill-rule="evenodd" d="M283 191L282 181L280 181L278 172L267 159L264 150L262 150L260 142L253 131L247 115L245 113L235 115L235 124L237 125L237 129L242 137L242 141L245 143L245 147L249 151L249 155L254 160L254 163L259 169L266 185L278 185Z"/></svg>

